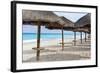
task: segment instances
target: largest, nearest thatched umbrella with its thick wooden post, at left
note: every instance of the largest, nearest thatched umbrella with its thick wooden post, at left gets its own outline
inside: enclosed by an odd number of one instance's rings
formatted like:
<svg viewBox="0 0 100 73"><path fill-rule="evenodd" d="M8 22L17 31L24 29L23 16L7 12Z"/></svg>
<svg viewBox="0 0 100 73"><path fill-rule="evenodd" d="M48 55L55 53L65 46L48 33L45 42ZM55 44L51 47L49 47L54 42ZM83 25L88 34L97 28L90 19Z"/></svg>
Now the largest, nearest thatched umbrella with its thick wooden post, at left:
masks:
<svg viewBox="0 0 100 73"><path fill-rule="evenodd" d="M59 26L62 27L65 23L56 14L51 11L36 11L36 10L23 10L22 11L23 24L37 25L37 61L40 57L40 35L41 25L43 26Z"/></svg>

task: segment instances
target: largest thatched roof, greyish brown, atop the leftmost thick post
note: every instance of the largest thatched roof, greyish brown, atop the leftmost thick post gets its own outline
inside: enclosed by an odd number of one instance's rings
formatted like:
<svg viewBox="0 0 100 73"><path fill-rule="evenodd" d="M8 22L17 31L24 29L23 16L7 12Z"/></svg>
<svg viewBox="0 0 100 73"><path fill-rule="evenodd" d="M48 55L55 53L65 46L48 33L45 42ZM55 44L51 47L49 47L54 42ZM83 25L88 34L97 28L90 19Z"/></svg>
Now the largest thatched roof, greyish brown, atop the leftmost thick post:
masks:
<svg viewBox="0 0 100 73"><path fill-rule="evenodd" d="M64 24L56 14L51 11L37 11L37 10L23 10L22 11L22 19L23 23L32 22L37 23L41 22L42 25L44 24Z"/></svg>

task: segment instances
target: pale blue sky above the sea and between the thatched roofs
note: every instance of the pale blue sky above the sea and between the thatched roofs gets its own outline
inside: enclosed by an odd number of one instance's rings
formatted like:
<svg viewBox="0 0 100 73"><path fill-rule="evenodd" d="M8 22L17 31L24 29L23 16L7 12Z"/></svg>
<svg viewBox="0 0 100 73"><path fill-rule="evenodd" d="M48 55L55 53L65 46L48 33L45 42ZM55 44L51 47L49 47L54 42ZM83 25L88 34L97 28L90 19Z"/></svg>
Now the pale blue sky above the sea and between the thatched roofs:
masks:
<svg viewBox="0 0 100 73"><path fill-rule="evenodd" d="M76 22L78 19L86 15L87 13L74 13L74 12L54 12L58 16L64 16L65 18ZM41 33L60 33L61 30L48 30L44 26L41 27ZM71 32L71 31L69 31ZM65 33L69 33L66 32ZM23 25L23 33L37 33L37 26Z"/></svg>

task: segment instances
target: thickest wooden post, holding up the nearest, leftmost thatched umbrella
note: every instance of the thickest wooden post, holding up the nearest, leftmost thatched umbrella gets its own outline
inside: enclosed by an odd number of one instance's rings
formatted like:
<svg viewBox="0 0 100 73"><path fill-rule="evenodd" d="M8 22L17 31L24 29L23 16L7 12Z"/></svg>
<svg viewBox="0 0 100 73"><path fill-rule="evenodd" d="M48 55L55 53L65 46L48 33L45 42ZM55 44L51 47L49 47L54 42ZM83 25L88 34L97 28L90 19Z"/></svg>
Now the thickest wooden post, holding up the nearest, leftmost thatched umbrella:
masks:
<svg viewBox="0 0 100 73"><path fill-rule="evenodd" d="M38 31L37 31L37 54L36 54L36 60L39 61L40 58L40 35L41 35L41 25L38 22Z"/></svg>

